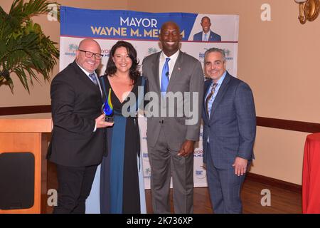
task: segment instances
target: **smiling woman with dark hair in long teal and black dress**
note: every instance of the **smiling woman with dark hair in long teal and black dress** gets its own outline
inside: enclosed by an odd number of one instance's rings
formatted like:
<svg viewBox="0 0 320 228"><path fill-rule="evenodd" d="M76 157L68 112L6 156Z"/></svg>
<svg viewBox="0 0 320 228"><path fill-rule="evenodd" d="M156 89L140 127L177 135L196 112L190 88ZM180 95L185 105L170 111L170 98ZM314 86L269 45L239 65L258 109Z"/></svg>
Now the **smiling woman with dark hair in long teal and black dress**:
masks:
<svg viewBox="0 0 320 228"><path fill-rule="evenodd" d="M132 44L118 41L110 51L105 75L100 77L105 97L112 103L114 126L107 129L108 152L97 169L87 213L146 212L137 118L146 83L138 63Z"/></svg>

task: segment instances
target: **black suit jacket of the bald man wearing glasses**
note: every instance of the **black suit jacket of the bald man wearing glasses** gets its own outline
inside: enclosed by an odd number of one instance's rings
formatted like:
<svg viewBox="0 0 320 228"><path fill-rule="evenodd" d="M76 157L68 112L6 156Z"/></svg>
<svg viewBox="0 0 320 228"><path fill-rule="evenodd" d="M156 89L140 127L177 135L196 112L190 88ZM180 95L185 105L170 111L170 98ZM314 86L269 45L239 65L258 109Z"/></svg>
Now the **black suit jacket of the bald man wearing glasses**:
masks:
<svg viewBox="0 0 320 228"><path fill-rule="evenodd" d="M71 167L99 164L107 152L105 129L93 132L95 118L102 113L100 89L74 61L53 78L50 95L53 131L48 159Z"/></svg>

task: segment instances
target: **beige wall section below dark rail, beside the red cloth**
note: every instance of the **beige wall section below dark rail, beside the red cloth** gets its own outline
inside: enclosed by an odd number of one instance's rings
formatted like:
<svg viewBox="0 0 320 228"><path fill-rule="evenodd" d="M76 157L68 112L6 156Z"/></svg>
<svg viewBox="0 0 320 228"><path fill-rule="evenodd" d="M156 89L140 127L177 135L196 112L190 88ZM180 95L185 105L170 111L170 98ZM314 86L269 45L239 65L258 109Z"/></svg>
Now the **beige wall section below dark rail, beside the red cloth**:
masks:
<svg viewBox="0 0 320 228"><path fill-rule="evenodd" d="M256 159L250 172L301 185L306 135L308 133L257 127Z"/></svg>

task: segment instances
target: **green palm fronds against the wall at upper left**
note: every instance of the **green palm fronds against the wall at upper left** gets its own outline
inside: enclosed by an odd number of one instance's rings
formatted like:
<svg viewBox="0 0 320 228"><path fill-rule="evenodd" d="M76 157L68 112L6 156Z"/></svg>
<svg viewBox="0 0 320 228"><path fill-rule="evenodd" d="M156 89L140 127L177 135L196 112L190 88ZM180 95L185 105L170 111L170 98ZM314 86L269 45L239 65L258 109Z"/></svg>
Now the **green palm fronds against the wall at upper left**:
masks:
<svg viewBox="0 0 320 228"><path fill-rule="evenodd" d="M46 36L32 17L48 14L47 0L14 0L7 14L0 6L0 88L9 86L14 92L12 76L17 76L23 87L29 90L29 83L50 81L50 72L59 58L55 42Z"/></svg>

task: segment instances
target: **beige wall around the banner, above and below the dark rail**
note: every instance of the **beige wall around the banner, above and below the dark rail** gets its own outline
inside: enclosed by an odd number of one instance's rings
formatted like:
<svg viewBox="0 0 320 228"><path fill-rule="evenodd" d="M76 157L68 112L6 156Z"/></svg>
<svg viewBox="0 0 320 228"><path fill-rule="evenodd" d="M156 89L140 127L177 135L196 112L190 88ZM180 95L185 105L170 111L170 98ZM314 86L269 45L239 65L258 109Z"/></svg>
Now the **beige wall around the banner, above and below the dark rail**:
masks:
<svg viewBox="0 0 320 228"><path fill-rule="evenodd" d="M257 116L320 123L320 17L302 26L297 19L298 5L294 0L58 2L87 9L238 14L238 78L250 84L255 95ZM4 0L0 3L1 6L9 5ZM260 19L260 6L265 3L271 6L272 21ZM59 24L46 21L44 16L37 20L45 26L46 33L58 41ZM15 95L11 95L8 89L1 87L0 106L50 104L48 84L34 86L31 95L18 83L15 88ZM301 184L306 135L258 127L256 160L251 172Z"/></svg>

